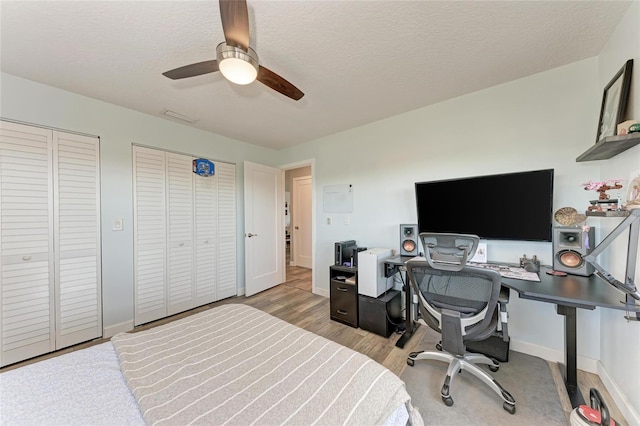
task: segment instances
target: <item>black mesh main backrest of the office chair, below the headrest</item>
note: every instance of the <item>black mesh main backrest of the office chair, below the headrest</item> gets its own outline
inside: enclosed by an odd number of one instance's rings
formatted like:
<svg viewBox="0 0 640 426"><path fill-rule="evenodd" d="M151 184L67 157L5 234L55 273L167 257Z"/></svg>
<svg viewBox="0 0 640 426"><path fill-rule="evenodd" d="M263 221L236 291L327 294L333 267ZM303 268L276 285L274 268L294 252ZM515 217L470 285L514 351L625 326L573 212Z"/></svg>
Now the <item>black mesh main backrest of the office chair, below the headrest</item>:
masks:
<svg viewBox="0 0 640 426"><path fill-rule="evenodd" d="M495 330L501 287L497 271L471 266L441 269L427 260L410 260L406 266L422 318L443 334L443 343L447 321L449 329L458 329L455 334L462 341L479 340Z"/></svg>

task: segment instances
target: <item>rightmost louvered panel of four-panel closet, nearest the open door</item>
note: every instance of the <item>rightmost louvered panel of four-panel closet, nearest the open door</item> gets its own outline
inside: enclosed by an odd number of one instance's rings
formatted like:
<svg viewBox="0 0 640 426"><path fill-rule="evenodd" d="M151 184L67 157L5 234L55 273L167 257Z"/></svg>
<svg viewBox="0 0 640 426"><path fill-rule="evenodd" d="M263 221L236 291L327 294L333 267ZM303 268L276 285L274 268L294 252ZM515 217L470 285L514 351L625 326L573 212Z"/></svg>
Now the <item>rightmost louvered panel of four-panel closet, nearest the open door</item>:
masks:
<svg viewBox="0 0 640 426"><path fill-rule="evenodd" d="M218 179L218 300L236 290L236 166L216 163Z"/></svg>

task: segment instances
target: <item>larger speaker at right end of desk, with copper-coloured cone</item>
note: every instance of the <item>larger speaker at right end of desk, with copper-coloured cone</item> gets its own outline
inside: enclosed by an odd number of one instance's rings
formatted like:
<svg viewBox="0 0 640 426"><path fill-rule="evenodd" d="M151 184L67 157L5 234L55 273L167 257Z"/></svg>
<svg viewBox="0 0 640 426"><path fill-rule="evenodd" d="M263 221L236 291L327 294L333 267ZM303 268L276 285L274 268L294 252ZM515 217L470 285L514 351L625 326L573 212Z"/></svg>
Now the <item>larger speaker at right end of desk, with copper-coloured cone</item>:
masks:
<svg viewBox="0 0 640 426"><path fill-rule="evenodd" d="M572 226L553 228L553 269L567 274L588 277L593 274L593 266L582 256L591 253L595 247L593 227L587 231Z"/></svg>

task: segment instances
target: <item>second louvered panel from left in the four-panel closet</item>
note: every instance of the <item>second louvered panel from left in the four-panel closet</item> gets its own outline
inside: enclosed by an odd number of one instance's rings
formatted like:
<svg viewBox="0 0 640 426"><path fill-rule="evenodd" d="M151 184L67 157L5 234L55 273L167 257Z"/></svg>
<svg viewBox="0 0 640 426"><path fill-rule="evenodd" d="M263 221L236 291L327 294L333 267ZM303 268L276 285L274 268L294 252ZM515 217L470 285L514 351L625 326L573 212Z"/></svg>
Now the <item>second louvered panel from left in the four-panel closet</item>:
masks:
<svg viewBox="0 0 640 426"><path fill-rule="evenodd" d="M195 307L193 291L193 163L166 153L167 308L173 315Z"/></svg>

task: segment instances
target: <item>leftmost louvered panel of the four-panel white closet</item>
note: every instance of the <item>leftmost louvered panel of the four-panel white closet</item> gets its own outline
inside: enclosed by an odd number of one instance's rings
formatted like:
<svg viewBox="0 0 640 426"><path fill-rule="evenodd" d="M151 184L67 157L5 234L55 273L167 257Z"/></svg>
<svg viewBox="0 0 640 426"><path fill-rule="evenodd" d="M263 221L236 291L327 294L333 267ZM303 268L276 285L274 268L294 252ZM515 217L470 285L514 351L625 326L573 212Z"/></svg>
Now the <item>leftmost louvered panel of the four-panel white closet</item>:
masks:
<svg viewBox="0 0 640 426"><path fill-rule="evenodd" d="M164 152L133 147L136 325L167 316Z"/></svg>

